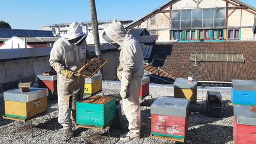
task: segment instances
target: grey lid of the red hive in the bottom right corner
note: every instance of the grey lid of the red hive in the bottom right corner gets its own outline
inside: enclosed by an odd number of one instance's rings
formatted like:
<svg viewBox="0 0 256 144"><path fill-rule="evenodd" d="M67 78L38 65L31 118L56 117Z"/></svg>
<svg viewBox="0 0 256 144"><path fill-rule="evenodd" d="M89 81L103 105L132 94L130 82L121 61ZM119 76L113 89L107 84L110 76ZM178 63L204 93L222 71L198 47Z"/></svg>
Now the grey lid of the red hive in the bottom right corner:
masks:
<svg viewBox="0 0 256 144"><path fill-rule="evenodd" d="M233 113L237 124L256 126L256 113L252 113L251 105L234 105Z"/></svg>

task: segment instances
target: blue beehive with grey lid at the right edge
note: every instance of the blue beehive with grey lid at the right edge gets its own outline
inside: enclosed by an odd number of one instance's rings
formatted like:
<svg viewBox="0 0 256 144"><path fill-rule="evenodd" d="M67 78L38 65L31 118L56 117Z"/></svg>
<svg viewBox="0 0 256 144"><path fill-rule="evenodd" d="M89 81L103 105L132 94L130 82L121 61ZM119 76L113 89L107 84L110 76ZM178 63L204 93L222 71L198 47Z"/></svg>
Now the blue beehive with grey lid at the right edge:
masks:
<svg viewBox="0 0 256 144"><path fill-rule="evenodd" d="M256 105L256 81L232 80L233 104Z"/></svg>

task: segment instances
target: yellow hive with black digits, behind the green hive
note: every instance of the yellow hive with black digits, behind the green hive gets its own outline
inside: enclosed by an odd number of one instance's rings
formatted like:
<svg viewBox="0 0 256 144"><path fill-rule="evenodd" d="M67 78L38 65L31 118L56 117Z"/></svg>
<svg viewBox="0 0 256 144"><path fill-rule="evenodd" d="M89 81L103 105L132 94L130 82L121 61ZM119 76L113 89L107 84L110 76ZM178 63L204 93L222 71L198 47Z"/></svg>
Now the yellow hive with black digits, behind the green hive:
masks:
<svg viewBox="0 0 256 144"><path fill-rule="evenodd" d="M92 95L102 91L102 75L95 74L92 78L85 78L84 94Z"/></svg>

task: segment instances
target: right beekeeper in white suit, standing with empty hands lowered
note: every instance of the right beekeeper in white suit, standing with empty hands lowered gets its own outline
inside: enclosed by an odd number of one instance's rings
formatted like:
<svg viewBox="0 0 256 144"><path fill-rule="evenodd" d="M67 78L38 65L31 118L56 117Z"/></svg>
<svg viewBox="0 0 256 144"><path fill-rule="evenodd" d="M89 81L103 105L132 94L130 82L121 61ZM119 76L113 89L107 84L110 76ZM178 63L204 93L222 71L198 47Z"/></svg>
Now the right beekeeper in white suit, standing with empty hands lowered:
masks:
<svg viewBox="0 0 256 144"><path fill-rule="evenodd" d="M127 34L123 25L117 21L104 29L103 38L120 50L120 65L117 76L121 81L120 95L123 98L124 114L129 121L130 132L120 136L121 140L140 138L140 104L139 93L142 81L143 53L140 43L130 34Z"/></svg>

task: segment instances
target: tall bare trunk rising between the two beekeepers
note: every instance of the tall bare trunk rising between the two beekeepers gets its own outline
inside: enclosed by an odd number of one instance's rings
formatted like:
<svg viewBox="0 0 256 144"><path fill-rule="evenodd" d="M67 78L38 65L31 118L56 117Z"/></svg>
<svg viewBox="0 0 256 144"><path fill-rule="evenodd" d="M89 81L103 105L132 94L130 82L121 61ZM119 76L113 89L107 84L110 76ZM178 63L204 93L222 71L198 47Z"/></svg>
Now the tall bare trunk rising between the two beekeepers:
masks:
<svg viewBox="0 0 256 144"><path fill-rule="evenodd" d="M91 21L92 21L92 33L94 36L95 54L100 58L101 57L100 38L98 33L98 18L97 18L95 0L89 0L89 5L90 5ZM101 71L99 71L99 73L101 73Z"/></svg>

